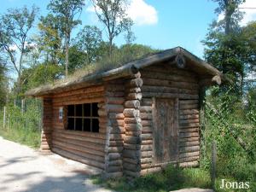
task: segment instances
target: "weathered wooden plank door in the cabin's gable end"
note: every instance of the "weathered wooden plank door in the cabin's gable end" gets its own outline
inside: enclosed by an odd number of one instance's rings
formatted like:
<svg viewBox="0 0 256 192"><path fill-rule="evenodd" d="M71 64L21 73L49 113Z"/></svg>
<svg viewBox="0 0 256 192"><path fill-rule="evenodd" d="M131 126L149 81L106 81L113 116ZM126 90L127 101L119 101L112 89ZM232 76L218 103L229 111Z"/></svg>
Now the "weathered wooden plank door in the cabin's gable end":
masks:
<svg viewBox="0 0 256 192"><path fill-rule="evenodd" d="M178 158L177 99L154 99L154 162Z"/></svg>

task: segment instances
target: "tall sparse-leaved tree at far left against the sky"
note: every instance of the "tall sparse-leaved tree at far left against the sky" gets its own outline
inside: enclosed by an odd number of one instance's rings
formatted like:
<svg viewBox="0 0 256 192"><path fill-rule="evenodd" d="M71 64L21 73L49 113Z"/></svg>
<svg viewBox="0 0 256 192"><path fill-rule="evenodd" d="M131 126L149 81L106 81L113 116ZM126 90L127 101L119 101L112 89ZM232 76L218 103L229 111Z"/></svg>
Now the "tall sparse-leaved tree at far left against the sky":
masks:
<svg viewBox="0 0 256 192"><path fill-rule="evenodd" d="M17 94L22 85L20 75L24 69L23 56L30 49L27 42L28 32L32 29L36 15L38 15L38 8L32 6L31 10L26 7L8 9L7 14L0 18L0 46L3 48L3 53L8 55L9 63L15 67L18 75Z"/></svg>

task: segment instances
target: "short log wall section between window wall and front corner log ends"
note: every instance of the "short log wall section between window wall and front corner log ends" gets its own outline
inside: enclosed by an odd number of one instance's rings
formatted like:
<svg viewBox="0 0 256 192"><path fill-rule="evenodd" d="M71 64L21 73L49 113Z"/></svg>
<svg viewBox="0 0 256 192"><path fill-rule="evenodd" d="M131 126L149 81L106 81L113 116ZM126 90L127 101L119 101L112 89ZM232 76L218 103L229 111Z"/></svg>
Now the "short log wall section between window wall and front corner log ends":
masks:
<svg viewBox="0 0 256 192"><path fill-rule="evenodd" d="M100 122L102 126L107 127L107 129L102 129L107 137L104 177L121 177L123 175L122 152L125 136L124 80L108 81L105 84L105 89L105 104L102 106L104 116L102 115Z"/></svg>

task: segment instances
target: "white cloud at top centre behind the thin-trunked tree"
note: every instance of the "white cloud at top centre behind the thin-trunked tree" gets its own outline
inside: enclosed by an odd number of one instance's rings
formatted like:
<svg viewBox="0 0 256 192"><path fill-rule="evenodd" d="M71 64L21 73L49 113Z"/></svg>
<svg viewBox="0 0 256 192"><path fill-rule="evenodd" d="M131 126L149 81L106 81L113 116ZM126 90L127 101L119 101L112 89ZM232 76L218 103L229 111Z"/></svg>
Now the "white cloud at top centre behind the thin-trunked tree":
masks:
<svg viewBox="0 0 256 192"><path fill-rule="evenodd" d="M89 6L86 11L95 13L95 8ZM138 26L154 25L158 22L156 9L152 5L145 3L144 0L131 0L127 8L127 15Z"/></svg>

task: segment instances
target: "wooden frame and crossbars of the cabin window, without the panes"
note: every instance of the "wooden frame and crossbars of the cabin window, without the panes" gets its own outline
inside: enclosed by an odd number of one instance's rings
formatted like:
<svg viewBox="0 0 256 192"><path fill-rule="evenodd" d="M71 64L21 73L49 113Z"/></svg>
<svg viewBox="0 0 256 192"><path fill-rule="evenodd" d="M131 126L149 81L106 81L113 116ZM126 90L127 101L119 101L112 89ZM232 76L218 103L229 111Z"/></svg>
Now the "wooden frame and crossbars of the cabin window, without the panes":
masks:
<svg viewBox="0 0 256 192"><path fill-rule="evenodd" d="M84 116L84 105L88 105L90 104L90 116ZM93 115L93 104L96 105L96 108L97 108L97 116L94 116ZM82 105L82 116L77 116L76 113L77 113L77 106L78 105ZM87 102L87 103L80 103L80 104L71 104L71 105L67 105L66 108L67 108L67 126L66 127L66 130L68 131L83 131L83 132L94 132L94 133L98 133L99 132L99 114L98 114L98 102ZM68 115L68 107L69 106L73 106L73 115ZM68 128L68 119L73 119L73 129L69 129ZM76 126L76 121L77 119L82 119L82 129L81 130L78 130L77 129L77 126ZM85 127L84 127L84 119L90 119L90 131L89 130L85 130ZM98 130L97 131L93 131L93 119L97 119L98 120Z"/></svg>

